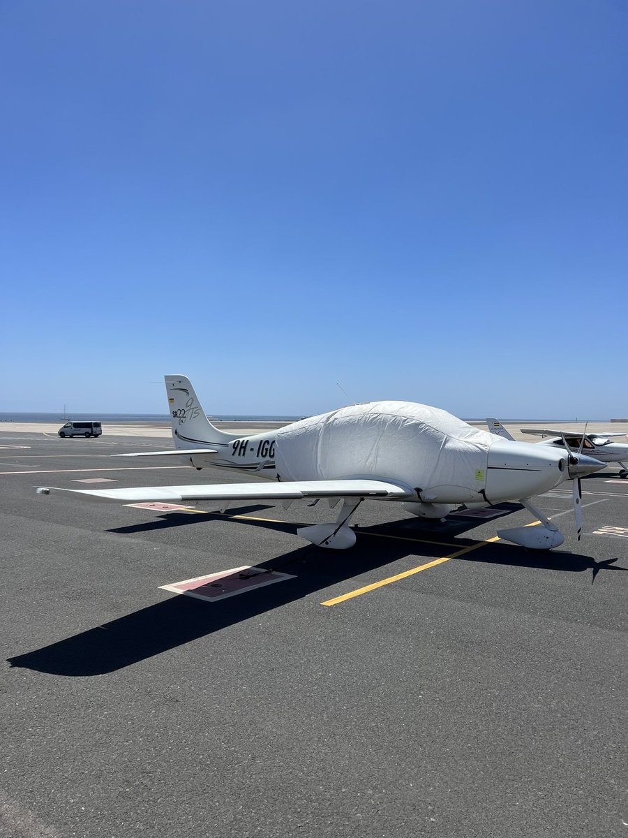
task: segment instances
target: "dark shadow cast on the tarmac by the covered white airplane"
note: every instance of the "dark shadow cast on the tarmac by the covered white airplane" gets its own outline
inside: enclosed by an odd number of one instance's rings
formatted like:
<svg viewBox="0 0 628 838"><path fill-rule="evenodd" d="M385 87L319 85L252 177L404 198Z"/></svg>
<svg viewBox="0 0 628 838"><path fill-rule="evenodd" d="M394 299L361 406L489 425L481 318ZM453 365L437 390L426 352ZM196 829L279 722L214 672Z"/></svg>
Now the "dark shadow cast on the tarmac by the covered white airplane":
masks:
<svg viewBox="0 0 628 838"><path fill-rule="evenodd" d="M508 504L505 504L508 505ZM509 504L504 514L519 509ZM260 507L256 507L259 509ZM248 508L247 511L251 511ZM235 510L233 510L235 511ZM232 511L232 514L233 514ZM239 510L243 511L243 510ZM162 526L198 525L215 520L216 515L190 515L171 513L162 520L145 522L141 525L119 528L116 532L137 532ZM224 517L223 515L220 516ZM238 518L234 522L245 526L270 527L275 530L294 533L296 524ZM345 582L378 567L386 566L406 556L414 556L412 537L420 543L421 563L446 556L452 551L451 539L461 531L476 527L477 520L456 520L426 522L399 520L387 524L360 527L356 530L358 542L352 550L342 552L342 561L336 551L321 550L308 545L282 556L261 562L258 567L268 570L297 573L297 576L277 585L250 590L238 597L230 597L214 603L204 603L183 595L168 597L167 600L126 614L110 623L88 629L81 634L44 646L27 654L9 658L13 666L45 672L52 675L89 676L105 675L120 670L140 660L146 660L167 649L220 631L230 625L250 619L274 608L281 608L313 592L321 591ZM395 536L390 537L390 536ZM383 549L385 537L388 536ZM446 536L446 538L444 538ZM425 541L423 541L425 539ZM427 541L448 543L426 543ZM476 546L480 541L469 538L457 539L460 549ZM496 565L533 567L540 571L584 572L595 575L604 570L624 570L611 566L616 559L596 562L591 556L577 556L569 552L526 551L503 542L478 547L475 551L458 557L454 561L481 561ZM593 581L592 579L592 581Z"/></svg>

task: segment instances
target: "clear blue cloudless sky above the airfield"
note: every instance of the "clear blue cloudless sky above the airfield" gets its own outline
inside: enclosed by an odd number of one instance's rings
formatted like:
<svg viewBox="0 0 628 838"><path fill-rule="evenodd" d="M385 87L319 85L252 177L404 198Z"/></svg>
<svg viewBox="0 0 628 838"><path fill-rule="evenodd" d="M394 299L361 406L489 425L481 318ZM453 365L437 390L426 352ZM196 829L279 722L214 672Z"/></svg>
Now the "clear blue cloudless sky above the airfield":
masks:
<svg viewBox="0 0 628 838"><path fill-rule="evenodd" d="M628 414L621 0L2 0L0 70L0 411Z"/></svg>

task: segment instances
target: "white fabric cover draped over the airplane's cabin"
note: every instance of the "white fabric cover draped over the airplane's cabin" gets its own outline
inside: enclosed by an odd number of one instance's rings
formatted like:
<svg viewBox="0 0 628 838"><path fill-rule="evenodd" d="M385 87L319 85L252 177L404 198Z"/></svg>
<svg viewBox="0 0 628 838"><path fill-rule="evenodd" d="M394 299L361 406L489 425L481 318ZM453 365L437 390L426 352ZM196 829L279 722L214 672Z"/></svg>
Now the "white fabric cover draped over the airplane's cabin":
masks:
<svg viewBox="0 0 628 838"><path fill-rule="evenodd" d="M476 494L486 487L488 449L498 439L436 407L372 401L281 428L275 464L284 480L377 476Z"/></svg>

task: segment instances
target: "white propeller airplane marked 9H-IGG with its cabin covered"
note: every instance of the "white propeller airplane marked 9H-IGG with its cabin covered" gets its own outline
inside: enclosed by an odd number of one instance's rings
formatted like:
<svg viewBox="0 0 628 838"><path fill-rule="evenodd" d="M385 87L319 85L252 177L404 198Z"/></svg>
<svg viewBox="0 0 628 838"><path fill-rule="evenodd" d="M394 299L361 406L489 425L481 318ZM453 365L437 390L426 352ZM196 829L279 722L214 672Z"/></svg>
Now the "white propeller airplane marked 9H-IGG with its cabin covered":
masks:
<svg viewBox="0 0 628 838"><path fill-rule="evenodd" d="M39 494L60 493L122 504L196 500L280 501L342 500L332 524L301 527L297 535L321 547L342 550L356 536L347 525L363 500L401 502L423 518L442 519L462 506L471 509L515 500L541 526L502 530L501 538L524 547L550 549L564 535L530 503L534 495L569 478L603 468L580 454L512 442L467 425L435 407L408 401L373 401L310 416L270 433L250 436L219 431L209 422L189 380L166 375L175 449L118 454L166 457L194 468L250 473L269 482L214 485L147 486L133 489L59 489L40 486ZM579 484L574 480L574 486ZM580 499L574 490L579 525Z"/></svg>

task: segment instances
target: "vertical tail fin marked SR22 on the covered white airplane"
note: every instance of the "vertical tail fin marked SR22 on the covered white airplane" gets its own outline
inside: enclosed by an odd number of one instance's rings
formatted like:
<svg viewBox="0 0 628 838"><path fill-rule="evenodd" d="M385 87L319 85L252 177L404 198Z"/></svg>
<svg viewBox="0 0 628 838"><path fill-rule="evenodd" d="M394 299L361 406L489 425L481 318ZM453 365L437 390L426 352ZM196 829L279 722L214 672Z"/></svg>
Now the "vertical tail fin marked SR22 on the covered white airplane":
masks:
<svg viewBox="0 0 628 838"><path fill-rule="evenodd" d="M192 444L215 445L239 439L237 434L219 431L209 422L190 380L185 375L164 375L172 437L177 448Z"/></svg>

